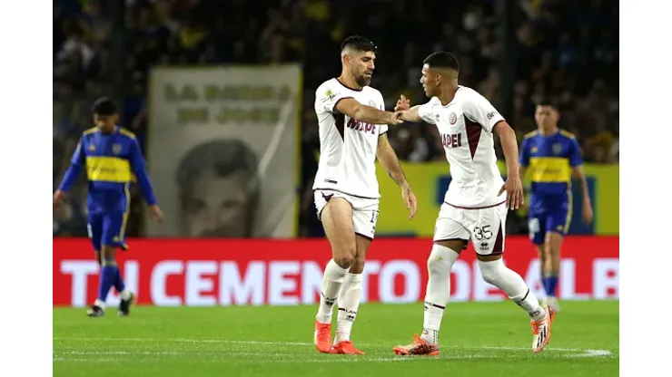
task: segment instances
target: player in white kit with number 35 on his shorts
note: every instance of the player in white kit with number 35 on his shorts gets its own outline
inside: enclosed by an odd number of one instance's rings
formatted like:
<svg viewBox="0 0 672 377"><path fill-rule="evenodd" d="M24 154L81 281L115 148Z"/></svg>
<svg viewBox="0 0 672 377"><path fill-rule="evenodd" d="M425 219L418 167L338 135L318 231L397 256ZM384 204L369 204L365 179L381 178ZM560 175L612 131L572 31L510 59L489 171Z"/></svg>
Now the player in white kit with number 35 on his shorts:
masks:
<svg viewBox="0 0 672 377"><path fill-rule="evenodd" d="M450 269L467 247L474 245L480 274L528 312L533 330L532 351L539 353L550 338L555 312L541 306L520 275L501 259L508 209L523 203L516 133L479 92L458 84L460 65L451 53L432 53L422 67L420 82L430 102L410 108L403 96L395 111L401 119L425 121L439 129L450 165L450 186L434 229L434 245L427 261L422 335L397 354L439 354L439 328L450 296ZM494 137L499 136L507 163L507 181L497 167Z"/></svg>

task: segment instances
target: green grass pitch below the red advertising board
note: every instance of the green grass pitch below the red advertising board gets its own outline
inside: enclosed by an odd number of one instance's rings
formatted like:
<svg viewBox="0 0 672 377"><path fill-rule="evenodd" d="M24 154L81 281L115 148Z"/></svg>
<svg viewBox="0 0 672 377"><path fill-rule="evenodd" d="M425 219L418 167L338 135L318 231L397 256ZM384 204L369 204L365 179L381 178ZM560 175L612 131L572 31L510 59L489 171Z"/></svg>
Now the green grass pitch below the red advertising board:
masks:
<svg viewBox="0 0 672 377"><path fill-rule="evenodd" d="M315 350L316 305L139 306L127 318L54 308L54 376L618 376L618 301L561 304L539 354L515 304L449 304L434 358L392 352L421 331L421 303L362 304L352 329L361 356Z"/></svg>

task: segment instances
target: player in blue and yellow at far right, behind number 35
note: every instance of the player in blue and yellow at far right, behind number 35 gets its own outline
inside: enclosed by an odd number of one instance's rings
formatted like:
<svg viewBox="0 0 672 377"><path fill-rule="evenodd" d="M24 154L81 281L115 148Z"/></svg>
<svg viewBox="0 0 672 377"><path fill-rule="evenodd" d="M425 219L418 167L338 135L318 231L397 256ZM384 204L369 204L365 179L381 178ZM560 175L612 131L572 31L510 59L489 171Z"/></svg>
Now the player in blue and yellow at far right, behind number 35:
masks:
<svg viewBox="0 0 672 377"><path fill-rule="evenodd" d="M590 223L593 211L583 158L574 135L558 129L558 109L541 102L535 111L537 131L525 135L520 147L520 177L528 172L529 237L539 250L546 304L559 310L556 297L560 269L560 246L572 216L571 179L581 184L583 219Z"/></svg>

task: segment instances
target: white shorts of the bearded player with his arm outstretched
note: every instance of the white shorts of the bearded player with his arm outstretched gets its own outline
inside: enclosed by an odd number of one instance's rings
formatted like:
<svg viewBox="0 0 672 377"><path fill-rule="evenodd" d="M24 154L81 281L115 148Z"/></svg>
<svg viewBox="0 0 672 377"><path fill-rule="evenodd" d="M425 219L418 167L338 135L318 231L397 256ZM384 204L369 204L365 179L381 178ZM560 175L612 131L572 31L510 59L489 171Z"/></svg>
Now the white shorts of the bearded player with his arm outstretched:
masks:
<svg viewBox="0 0 672 377"><path fill-rule="evenodd" d="M331 198L344 198L352 206L352 227L356 235L373 240L376 234L380 199L354 197L350 194L331 189L317 189L314 191L317 218L321 220L322 209Z"/></svg>

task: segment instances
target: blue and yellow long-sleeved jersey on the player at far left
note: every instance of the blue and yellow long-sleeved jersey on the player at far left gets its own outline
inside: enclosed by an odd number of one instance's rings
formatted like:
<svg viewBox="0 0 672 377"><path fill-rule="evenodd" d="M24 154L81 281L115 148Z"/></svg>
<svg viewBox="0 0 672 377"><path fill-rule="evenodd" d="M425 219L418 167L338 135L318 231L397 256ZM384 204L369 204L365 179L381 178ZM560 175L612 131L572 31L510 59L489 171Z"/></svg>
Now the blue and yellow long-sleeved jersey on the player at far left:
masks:
<svg viewBox="0 0 672 377"><path fill-rule="evenodd" d="M156 204L143 153L133 132L121 127L112 133L96 128L84 131L59 189L71 189L84 169L90 212L128 211L132 181L137 182L147 204Z"/></svg>

